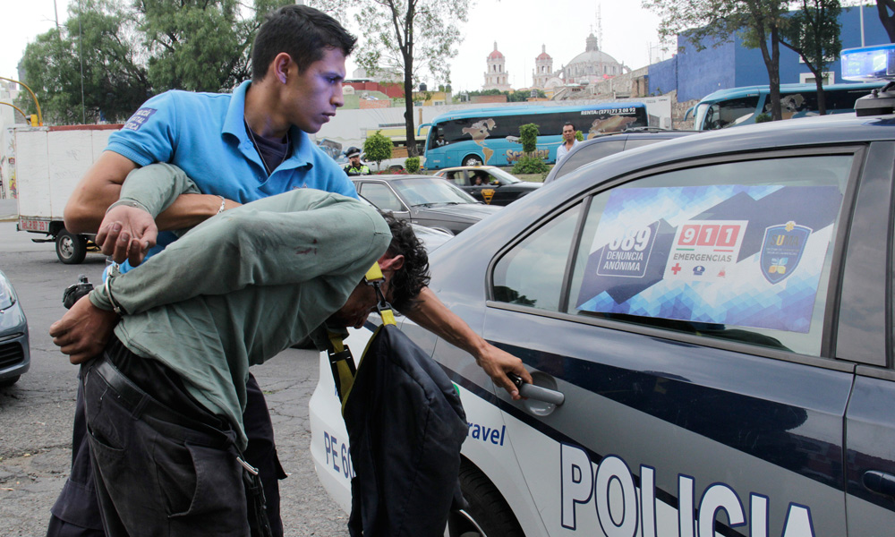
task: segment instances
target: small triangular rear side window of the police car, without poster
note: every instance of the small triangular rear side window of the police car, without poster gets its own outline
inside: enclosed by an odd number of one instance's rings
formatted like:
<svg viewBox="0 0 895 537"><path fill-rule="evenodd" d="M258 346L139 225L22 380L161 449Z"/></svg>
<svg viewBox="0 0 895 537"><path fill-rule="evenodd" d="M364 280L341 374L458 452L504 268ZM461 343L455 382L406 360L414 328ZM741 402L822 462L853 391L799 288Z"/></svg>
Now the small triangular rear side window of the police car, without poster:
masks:
<svg viewBox="0 0 895 537"><path fill-rule="evenodd" d="M558 311L580 212L580 204L567 209L499 260L493 277L495 300Z"/></svg>

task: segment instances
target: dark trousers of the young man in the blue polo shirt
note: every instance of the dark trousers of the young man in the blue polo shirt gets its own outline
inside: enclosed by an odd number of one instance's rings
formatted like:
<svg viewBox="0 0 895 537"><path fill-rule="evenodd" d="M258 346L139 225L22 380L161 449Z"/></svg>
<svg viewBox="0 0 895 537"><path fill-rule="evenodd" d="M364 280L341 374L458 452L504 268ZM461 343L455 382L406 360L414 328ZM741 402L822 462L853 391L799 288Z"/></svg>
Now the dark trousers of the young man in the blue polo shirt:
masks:
<svg viewBox="0 0 895 537"><path fill-rule="evenodd" d="M249 446L243 455L246 461L258 468L270 528L275 536L283 535L283 522L279 511L279 483L286 478L280 466L274 444L273 425L270 422L267 403L257 380L249 376L246 384L247 401L243 412L245 433ZM51 509L47 537L103 537L99 516L97 492L93 483L93 466L90 463L87 426L84 420L84 397L81 383L75 403L72 434L72 473L65 482L59 498Z"/></svg>

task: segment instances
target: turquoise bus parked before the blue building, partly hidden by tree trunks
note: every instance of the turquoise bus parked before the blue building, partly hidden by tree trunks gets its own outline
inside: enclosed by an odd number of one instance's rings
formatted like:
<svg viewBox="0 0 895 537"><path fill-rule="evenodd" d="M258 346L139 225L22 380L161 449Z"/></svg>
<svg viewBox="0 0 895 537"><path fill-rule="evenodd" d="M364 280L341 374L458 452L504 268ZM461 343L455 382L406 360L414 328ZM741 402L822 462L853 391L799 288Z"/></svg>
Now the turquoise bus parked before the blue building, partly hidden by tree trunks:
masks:
<svg viewBox="0 0 895 537"><path fill-rule="evenodd" d="M855 111L855 101L872 90L882 88L882 82L831 84L824 86L827 114ZM817 115L817 86L815 84L780 84L780 107L783 119ZM712 131L734 125L755 123L761 114L771 115L769 86L746 86L718 90L699 101L684 115L684 120L695 111L693 129Z"/></svg>

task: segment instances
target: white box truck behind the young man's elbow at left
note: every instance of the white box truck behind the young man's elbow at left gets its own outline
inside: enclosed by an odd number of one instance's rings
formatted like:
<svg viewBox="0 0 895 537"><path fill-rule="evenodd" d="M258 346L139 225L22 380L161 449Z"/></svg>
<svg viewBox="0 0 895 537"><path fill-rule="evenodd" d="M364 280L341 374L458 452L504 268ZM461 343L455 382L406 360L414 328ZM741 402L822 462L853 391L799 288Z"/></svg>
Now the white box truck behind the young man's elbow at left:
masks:
<svg viewBox="0 0 895 537"><path fill-rule="evenodd" d="M88 251L98 251L91 234L65 229L63 211L75 185L106 148L120 124L16 126L13 173L18 189L19 231L39 233L36 243L55 242L56 256L77 264Z"/></svg>

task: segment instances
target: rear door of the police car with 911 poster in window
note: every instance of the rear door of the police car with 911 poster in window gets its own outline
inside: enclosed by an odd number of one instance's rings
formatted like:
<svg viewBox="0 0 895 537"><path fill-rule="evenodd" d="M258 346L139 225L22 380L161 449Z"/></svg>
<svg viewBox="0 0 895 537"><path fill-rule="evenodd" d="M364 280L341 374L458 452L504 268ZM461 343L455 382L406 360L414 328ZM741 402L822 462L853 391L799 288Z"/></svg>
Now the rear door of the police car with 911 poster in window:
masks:
<svg viewBox="0 0 895 537"><path fill-rule="evenodd" d="M499 252L483 336L565 396L495 393L550 535L846 534L831 341L864 158L619 177Z"/></svg>

